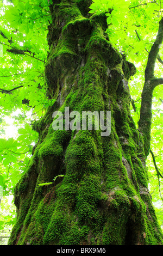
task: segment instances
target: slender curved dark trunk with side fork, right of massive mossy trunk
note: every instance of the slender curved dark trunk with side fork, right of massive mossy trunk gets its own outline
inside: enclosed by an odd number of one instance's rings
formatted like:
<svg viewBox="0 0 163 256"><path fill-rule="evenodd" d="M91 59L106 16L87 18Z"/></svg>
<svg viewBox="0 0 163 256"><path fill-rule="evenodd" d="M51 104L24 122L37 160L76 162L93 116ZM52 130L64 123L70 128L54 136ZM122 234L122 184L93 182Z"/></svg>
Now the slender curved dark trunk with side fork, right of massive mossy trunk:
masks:
<svg viewBox="0 0 163 256"><path fill-rule="evenodd" d="M152 99L153 90L159 84L163 84L163 78L154 76L155 62L159 53L159 46L163 41L163 18L159 22L158 34L148 55L145 70L145 84L141 95L141 109L139 120L139 131L142 134L143 145L146 157L150 151L151 144L151 125L152 125Z"/></svg>

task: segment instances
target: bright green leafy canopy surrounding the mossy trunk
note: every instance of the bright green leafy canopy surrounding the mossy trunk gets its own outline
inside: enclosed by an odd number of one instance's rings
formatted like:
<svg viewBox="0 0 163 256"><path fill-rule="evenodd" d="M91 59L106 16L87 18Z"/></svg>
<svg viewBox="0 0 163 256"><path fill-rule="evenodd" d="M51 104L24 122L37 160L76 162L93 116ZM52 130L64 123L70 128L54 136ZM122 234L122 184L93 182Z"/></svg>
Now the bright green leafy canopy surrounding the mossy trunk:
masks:
<svg viewBox="0 0 163 256"><path fill-rule="evenodd" d="M47 107L53 103L53 100L47 97L44 81L44 67L48 54L47 27L51 23L50 4L51 1L47 0L1 2L0 186L3 187L3 196L13 194L17 181L26 172L32 148L38 139L37 132L32 130L32 123L41 118L46 113ZM140 115L141 92L148 53L158 31L162 6L162 0L94 0L90 7L90 13L106 13L108 22L106 32L111 43L137 67L137 73L130 81L130 94L135 106L134 109L131 106L131 112L136 124ZM163 47L160 46L160 57L163 57L162 49ZM158 61L155 74L160 75L161 71L162 63ZM163 170L162 102L163 93L159 86L153 94L151 149L160 170ZM21 112L17 109L21 109ZM15 135L7 134L6 117L14 120L17 130ZM161 224L162 201L151 155L148 157L148 171L149 188ZM160 187L162 188L162 181ZM3 200L2 198L2 202ZM2 202L3 211L7 208L7 204ZM4 225L14 223L14 215L15 212L10 213L8 220L1 217L0 230Z"/></svg>

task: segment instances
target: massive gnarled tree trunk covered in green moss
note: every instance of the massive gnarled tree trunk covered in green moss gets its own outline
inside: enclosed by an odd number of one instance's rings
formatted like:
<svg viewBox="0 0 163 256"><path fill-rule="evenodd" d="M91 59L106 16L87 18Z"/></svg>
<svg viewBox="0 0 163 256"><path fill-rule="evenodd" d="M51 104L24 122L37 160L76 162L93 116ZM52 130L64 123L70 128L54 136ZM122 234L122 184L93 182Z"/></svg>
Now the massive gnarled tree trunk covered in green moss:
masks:
<svg viewBox="0 0 163 256"><path fill-rule="evenodd" d="M135 74L105 35L91 1L54 1L45 78L56 99L34 129L40 138L16 186L9 245L161 245L146 155L130 114ZM54 131L53 112L111 111L111 134ZM45 182L51 185L39 186Z"/></svg>

